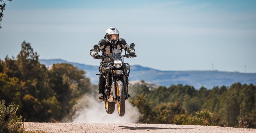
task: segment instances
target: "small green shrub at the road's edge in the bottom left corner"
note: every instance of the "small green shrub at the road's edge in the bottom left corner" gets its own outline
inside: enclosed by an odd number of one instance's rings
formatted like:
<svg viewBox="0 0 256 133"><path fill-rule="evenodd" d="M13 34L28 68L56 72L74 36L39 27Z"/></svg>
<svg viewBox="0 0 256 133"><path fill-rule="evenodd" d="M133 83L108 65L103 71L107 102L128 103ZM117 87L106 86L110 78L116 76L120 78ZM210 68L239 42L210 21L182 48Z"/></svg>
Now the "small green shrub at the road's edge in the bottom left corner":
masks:
<svg viewBox="0 0 256 133"><path fill-rule="evenodd" d="M16 116L18 107L14 103L9 106L4 105L4 100L0 99L0 132L21 133L24 131L22 116Z"/></svg>

